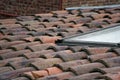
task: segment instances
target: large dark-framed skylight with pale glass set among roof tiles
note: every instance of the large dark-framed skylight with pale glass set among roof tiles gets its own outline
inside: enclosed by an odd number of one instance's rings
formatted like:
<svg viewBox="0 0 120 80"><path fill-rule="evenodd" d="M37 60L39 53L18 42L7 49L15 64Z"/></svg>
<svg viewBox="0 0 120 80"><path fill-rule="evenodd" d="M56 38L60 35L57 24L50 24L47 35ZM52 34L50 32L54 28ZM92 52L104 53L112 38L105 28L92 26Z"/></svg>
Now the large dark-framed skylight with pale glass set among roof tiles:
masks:
<svg viewBox="0 0 120 80"><path fill-rule="evenodd" d="M119 43L120 24L102 30L68 37L61 40L60 44L119 47Z"/></svg>

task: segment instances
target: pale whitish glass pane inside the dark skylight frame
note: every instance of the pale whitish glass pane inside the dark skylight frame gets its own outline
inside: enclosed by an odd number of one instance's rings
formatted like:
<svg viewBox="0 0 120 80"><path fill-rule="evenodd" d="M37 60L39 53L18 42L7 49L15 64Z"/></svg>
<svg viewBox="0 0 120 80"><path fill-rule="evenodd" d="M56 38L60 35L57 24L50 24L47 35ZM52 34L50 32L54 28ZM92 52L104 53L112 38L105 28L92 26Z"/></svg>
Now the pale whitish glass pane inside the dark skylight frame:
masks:
<svg viewBox="0 0 120 80"><path fill-rule="evenodd" d="M101 31L84 34L72 38L65 39L65 41L88 41L88 42L106 42L106 43L119 43L120 42L120 26L104 29Z"/></svg>

